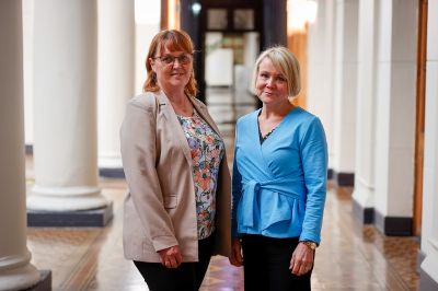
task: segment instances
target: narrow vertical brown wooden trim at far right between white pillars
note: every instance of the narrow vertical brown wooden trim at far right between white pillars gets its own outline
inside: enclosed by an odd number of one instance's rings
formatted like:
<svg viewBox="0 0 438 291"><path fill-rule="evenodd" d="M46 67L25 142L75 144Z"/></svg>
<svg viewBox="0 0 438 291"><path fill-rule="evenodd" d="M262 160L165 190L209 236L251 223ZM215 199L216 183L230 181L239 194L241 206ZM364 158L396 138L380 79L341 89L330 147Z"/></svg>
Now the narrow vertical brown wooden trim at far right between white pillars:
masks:
<svg viewBox="0 0 438 291"><path fill-rule="evenodd" d="M425 132L425 89L426 89L426 48L427 48L427 0L418 2L418 43L417 43L417 85L416 85L416 128L415 128L415 182L413 232L422 233L423 209L423 163Z"/></svg>

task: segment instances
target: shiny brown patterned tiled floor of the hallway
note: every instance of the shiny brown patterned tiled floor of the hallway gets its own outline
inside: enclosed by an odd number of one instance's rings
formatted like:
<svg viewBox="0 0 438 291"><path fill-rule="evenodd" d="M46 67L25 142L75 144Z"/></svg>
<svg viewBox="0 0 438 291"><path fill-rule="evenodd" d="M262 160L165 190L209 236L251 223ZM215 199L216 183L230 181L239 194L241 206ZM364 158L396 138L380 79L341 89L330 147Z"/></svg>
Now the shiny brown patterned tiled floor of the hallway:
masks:
<svg viewBox="0 0 438 291"><path fill-rule="evenodd" d="M224 113L230 108L212 103L210 110L220 120L231 162L232 120L253 107L242 105L227 116ZM31 158L27 183L30 186L33 183ZM51 270L53 290L148 290L134 265L123 257L122 203L126 184L122 179L101 179L100 186L103 195L114 202L113 220L101 229L28 228L32 263L38 269ZM316 251L312 276L313 290L417 290L417 240L387 237L372 226L358 224L351 216L351 190L328 190L323 241ZM201 290L243 290L242 276L242 269L230 266L227 258L215 257Z"/></svg>

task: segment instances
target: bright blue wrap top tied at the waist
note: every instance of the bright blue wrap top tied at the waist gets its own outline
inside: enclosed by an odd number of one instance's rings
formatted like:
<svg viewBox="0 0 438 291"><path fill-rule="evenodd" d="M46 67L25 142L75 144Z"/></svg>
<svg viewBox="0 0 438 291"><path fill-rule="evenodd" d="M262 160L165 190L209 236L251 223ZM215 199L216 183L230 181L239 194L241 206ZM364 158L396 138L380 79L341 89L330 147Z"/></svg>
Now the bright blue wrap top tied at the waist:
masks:
<svg viewBox="0 0 438 291"><path fill-rule="evenodd" d="M295 107L261 144L260 110L237 124L232 235L299 236L319 244L327 172L323 126Z"/></svg>

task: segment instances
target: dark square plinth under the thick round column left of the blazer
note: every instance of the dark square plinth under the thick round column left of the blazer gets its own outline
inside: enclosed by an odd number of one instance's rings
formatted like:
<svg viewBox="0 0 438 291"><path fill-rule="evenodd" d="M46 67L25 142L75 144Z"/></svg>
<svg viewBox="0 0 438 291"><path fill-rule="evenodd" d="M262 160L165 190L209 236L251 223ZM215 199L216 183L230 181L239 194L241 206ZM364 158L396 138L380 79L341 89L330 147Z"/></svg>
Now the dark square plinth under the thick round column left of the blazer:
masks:
<svg viewBox="0 0 438 291"><path fill-rule="evenodd" d="M103 228L113 218L113 202L106 207L78 211L27 210L27 226L31 228Z"/></svg>

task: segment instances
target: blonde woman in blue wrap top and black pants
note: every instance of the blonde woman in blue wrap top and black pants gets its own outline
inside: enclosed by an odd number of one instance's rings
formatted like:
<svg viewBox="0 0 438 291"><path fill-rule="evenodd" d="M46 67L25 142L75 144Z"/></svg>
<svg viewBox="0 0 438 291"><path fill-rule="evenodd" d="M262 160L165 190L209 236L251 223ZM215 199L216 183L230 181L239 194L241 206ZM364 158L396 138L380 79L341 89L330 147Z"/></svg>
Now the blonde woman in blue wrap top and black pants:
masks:
<svg viewBox="0 0 438 291"><path fill-rule="evenodd" d="M327 147L318 117L291 103L299 63L263 51L253 86L263 107L237 124L231 264L251 290L310 290L326 194Z"/></svg>

